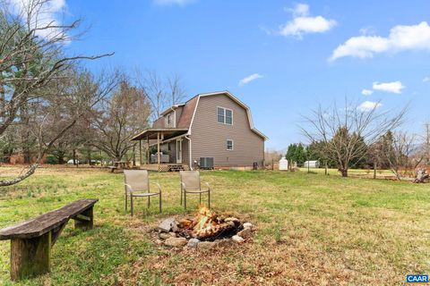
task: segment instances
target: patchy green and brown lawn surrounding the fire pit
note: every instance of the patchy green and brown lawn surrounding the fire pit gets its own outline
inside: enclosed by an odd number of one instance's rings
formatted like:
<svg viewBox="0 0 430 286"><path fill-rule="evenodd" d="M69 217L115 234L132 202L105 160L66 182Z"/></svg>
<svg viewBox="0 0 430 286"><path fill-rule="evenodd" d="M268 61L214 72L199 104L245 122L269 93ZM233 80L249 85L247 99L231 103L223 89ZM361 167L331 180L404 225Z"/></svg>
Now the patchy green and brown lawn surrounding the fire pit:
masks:
<svg viewBox="0 0 430 286"><path fill-rule="evenodd" d="M2 175L11 170L2 168ZM202 172L212 208L256 224L254 241L219 251L156 246L150 230L179 206L177 173L150 173L163 187L137 215L124 210L123 174L40 169L1 189L0 227L79 198L100 198L95 229L69 223L52 251L51 273L20 285L393 285L430 272L430 186L340 178L336 172ZM190 201L196 207L198 197ZM190 211L191 212L191 211ZM9 241L0 241L0 282L9 281Z"/></svg>

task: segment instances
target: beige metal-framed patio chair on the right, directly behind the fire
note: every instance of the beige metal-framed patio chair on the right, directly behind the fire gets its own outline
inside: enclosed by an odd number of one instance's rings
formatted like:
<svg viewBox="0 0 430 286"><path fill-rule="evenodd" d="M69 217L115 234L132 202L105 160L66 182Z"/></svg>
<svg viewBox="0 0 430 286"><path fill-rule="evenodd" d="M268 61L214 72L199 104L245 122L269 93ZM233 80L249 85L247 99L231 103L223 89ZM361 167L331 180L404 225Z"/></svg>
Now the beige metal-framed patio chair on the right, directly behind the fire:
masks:
<svg viewBox="0 0 430 286"><path fill-rule="evenodd" d="M208 206L211 208L211 187L209 183L205 182L208 189L202 189L202 183L200 181L199 171L181 171L179 172L181 177L181 206L182 197L184 196L184 207L186 210L186 194L199 194L200 204L202 204L202 193L208 193Z"/></svg>

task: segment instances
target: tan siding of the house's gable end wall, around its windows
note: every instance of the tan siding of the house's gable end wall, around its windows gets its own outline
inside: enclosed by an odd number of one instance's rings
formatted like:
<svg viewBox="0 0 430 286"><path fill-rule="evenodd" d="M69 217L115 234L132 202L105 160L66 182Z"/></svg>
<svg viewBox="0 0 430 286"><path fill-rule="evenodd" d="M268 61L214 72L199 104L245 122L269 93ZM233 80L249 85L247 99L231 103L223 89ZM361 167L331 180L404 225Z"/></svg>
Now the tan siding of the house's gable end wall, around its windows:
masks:
<svg viewBox="0 0 430 286"><path fill-rule="evenodd" d="M233 125L217 121L217 106L233 111ZM191 139L193 161L208 156L216 166L262 164L264 139L251 130L245 108L228 96L200 97ZM234 141L234 150L227 150L227 139Z"/></svg>

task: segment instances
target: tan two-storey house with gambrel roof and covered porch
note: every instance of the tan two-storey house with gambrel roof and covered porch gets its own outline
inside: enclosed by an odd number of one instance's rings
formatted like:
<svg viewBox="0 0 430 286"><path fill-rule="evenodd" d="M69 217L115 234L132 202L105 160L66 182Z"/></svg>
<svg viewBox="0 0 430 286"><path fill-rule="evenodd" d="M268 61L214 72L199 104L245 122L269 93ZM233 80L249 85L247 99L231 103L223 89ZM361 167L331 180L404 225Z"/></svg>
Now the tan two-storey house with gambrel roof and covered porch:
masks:
<svg viewBox="0 0 430 286"><path fill-rule="evenodd" d="M193 169L202 157L214 167L262 166L266 136L255 129L251 110L228 91L199 94L164 111L152 128L133 140L156 145L151 163L185 164Z"/></svg>

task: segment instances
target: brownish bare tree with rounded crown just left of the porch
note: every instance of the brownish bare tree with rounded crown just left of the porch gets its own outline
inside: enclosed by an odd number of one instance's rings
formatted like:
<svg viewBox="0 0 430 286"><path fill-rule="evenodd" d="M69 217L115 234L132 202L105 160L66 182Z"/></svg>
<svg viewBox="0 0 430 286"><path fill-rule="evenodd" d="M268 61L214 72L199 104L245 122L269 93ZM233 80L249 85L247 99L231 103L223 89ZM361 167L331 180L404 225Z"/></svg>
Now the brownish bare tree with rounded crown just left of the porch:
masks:
<svg viewBox="0 0 430 286"><path fill-rule="evenodd" d="M133 87L124 74L116 77L119 88L100 102L90 122L95 132L91 144L119 162L136 144L130 139L149 126L151 110L142 88Z"/></svg>

